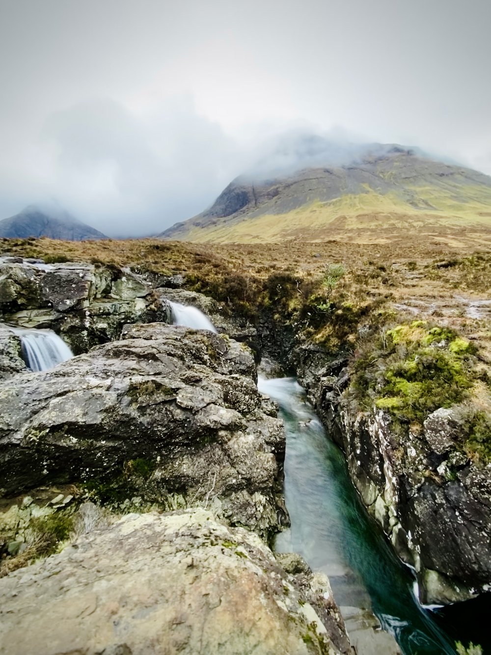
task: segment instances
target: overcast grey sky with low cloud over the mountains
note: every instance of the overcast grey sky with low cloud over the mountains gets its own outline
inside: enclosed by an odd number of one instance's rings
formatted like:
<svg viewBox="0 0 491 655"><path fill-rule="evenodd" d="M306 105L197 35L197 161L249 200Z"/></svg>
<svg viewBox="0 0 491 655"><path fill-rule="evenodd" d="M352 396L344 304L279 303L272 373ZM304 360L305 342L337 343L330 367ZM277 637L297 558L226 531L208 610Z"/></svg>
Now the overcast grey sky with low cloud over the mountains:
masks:
<svg viewBox="0 0 491 655"><path fill-rule="evenodd" d="M155 234L291 134L491 174L490 25L490 0L0 0L0 219Z"/></svg>

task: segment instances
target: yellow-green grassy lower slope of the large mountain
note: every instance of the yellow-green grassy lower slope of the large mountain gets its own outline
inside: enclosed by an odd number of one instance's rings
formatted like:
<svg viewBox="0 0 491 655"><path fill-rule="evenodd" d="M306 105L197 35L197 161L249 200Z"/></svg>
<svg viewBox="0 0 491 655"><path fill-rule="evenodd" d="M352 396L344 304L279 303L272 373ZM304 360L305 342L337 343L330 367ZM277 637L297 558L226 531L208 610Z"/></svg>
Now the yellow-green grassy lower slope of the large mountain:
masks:
<svg viewBox="0 0 491 655"><path fill-rule="evenodd" d="M454 189L411 187L411 191L432 209L414 207L393 191L382 195L367 189L367 193L312 202L285 214L245 216L234 225L217 221L206 228L193 227L187 240L260 243L302 236L311 242L350 238L363 243L380 238L386 242L414 229L491 230L491 189L455 185Z"/></svg>

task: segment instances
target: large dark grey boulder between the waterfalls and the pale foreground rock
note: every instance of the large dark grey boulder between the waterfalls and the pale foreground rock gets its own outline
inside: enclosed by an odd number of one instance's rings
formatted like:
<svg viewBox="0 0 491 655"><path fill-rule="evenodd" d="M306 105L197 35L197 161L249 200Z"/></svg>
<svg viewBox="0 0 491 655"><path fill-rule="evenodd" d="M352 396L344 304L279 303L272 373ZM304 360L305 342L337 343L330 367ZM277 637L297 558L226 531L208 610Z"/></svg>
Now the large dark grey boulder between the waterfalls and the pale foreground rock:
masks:
<svg viewBox="0 0 491 655"><path fill-rule="evenodd" d="M255 377L244 344L166 324L17 375L0 383L1 493L82 482L269 536L287 521L285 435Z"/></svg>

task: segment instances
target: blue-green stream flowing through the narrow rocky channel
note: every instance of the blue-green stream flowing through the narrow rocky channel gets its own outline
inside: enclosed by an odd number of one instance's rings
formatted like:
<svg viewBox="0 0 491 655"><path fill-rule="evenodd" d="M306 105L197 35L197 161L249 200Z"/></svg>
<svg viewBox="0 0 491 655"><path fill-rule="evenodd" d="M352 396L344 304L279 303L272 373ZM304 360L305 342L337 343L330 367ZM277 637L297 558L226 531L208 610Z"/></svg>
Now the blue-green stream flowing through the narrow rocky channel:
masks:
<svg viewBox="0 0 491 655"><path fill-rule="evenodd" d="M263 380L285 421L285 501L291 528L279 552L298 552L331 582L342 608L371 609L405 655L455 653L439 619L414 596L414 577L395 556L350 480L342 451L329 439L293 378Z"/></svg>

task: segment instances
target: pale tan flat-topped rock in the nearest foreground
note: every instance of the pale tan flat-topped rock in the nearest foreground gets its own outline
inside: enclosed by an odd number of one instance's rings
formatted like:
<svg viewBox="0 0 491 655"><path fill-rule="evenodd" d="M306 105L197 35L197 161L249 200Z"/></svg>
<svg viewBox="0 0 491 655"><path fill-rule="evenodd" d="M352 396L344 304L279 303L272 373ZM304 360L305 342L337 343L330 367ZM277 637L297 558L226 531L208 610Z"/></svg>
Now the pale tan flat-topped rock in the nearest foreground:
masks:
<svg viewBox="0 0 491 655"><path fill-rule="evenodd" d="M0 580L0 653L351 652L335 605L304 586L209 512L130 514Z"/></svg>

